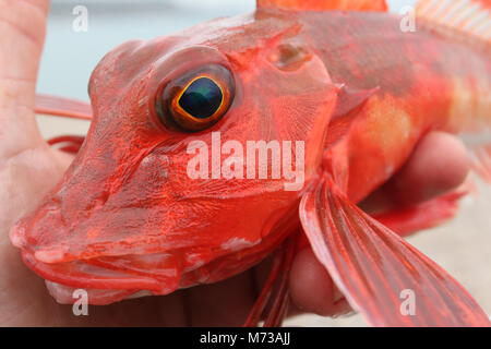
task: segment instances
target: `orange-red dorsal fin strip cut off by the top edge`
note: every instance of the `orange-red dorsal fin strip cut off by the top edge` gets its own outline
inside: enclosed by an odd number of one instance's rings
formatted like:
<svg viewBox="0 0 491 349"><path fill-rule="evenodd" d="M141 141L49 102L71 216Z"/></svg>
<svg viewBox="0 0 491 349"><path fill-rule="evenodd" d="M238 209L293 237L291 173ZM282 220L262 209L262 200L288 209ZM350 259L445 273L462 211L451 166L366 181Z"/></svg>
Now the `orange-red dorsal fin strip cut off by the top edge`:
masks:
<svg viewBox="0 0 491 349"><path fill-rule="evenodd" d="M298 11L387 11L385 0L258 0L258 8L278 8Z"/></svg>

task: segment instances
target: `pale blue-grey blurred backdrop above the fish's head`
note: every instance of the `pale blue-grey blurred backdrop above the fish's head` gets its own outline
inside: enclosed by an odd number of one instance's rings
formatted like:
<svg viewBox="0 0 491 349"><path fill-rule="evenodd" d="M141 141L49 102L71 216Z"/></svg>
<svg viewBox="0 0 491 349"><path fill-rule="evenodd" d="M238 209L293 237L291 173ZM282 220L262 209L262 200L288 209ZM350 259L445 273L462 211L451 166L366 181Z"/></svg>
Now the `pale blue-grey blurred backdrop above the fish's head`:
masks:
<svg viewBox="0 0 491 349"><path fill-rule="evenodd" d="M388 2L397 12L415 3ZM73 31L76 5L88 10L87 32ZM38 92L88 100L91 72L115 46L254 9L255 0L52 0Z"/></svg>

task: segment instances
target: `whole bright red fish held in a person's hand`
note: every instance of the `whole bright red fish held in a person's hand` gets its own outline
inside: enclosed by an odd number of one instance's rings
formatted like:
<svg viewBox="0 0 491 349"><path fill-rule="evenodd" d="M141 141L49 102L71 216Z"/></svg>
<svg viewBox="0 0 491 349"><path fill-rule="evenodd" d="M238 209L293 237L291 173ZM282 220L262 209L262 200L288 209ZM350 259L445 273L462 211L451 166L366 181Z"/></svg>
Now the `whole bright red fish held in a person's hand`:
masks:
<svg viewBox="0 0 491 349"><path fill-rule="evenodd" d="M59 302L85 288L92 304L223 280L280 246L247 322L274 294L266 324L278 325L307 237L371 325L489 326L454 278L392 230L440 222L459 195L379 220L356 205L428 132L491 125L489 8L420 1L416 31L405 31L382 0L260 0L252 14L125 43L91 77L83 144L58 140L82 144L74 163L11 240ZM51 101L39 109L89 113ZM243 158L260 141L270 148L265 164L251 163L256 172ZM290 160L276 176L274 145ZM481 173L490 153L475 148ZM261 166L271 176L259 178ZM408 290L414 316L400 311Z"/></svg>

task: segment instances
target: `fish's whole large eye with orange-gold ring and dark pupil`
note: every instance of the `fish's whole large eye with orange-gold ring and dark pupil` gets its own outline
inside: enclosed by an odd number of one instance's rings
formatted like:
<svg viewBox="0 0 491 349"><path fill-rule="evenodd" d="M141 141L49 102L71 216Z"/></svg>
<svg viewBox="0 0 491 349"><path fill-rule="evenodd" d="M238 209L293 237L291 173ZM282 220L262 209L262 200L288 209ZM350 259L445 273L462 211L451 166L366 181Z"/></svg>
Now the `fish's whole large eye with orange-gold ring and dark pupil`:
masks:
<svg viewBox="0 0 491 349"><path fill-rule="evenodd" d="M157 96L156 110L164 125L196 132L218 122L233 95L230 71L209 64L169 82Z"/></svg>

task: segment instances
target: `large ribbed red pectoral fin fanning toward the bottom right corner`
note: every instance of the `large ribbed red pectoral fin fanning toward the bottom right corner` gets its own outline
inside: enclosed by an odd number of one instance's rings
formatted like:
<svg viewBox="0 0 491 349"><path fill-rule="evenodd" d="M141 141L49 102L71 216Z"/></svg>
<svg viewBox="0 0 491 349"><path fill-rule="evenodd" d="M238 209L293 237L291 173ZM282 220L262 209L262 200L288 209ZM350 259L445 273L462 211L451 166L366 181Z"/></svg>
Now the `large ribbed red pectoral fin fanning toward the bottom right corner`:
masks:
<svg viewBox="0 0 491 349"><path fill-rule="evenodd" d="M319 261L371 325L491 325L454 278L349 202L330 179L303 196L300 219Z"/></svg>

